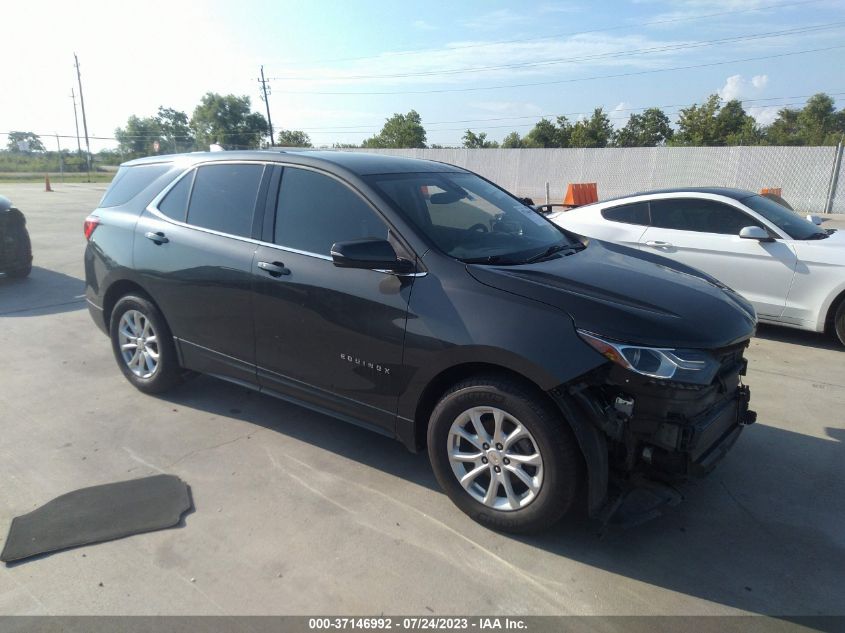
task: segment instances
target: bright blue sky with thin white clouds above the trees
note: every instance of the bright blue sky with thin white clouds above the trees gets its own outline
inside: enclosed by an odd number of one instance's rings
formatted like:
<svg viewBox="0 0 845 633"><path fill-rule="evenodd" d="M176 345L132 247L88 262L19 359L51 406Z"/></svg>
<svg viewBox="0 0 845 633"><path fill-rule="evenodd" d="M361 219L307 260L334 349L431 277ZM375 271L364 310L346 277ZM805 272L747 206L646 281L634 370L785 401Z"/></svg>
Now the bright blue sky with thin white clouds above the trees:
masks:
<svg viewBox="0 0 845 633"><path fill-rule="evenodd" d="M209 91L264 113L261 65L275 130L315 145L411 109L429 144L459 146L467 128L501 140L599 106L617 127L650 106L674 121L713 93L761 124L817 92L845 107L842 0L31 0L0 22L0 133L49 149L76 145L74 52L93 151L130 115L190 116Z"/></svg>

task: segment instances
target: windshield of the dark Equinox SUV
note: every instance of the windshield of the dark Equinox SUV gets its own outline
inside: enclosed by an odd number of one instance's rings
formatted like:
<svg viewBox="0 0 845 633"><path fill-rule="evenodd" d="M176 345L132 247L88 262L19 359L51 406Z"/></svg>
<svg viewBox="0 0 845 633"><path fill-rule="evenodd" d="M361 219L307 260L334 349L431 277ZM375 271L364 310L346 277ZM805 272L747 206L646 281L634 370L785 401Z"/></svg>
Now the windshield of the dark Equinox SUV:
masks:
<svg viewBox="0 0 845 633"><path fill-rule="evenodd" d="M367 180L438 249L467 263L522 264L583 248L475 174L383 174Z"/></svg>

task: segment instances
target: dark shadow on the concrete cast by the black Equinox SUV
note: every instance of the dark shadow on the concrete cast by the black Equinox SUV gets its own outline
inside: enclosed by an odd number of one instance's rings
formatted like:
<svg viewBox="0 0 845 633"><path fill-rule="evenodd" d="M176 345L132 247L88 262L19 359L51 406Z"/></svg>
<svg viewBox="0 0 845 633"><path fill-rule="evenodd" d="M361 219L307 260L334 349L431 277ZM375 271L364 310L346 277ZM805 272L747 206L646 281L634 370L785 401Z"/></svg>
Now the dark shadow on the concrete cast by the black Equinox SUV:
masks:
<svg viewBox="0 0 845 633"><path fill-rule="evenodd" d="M245 420L439 490L424 454L242 387L199 377L168 400ZM640 526L613 528L600 538L596 525L575 521L537 536L491 538L503 542L496 551L505 558L512 540L752 613L841 613L845 430L835 418L831 413L826 421L827 437L787 431L779 428L786 421L775 419L748 428L717 470L685 491L683 503ZM456 522L462 520L469 521ZM542 564L547 574L558 569L554 560Z"/></svg>

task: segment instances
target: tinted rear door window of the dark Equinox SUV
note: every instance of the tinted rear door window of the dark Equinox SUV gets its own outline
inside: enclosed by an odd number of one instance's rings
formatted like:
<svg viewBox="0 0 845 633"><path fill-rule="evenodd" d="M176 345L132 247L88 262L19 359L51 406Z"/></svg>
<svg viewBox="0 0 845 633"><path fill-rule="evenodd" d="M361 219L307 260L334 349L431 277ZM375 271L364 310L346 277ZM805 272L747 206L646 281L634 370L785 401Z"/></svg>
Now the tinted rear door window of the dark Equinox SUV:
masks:
<svg viewBox="0 0 845 633"><path fill-rule="evenodd" d="M194 176L189 224L248 237L263 165L205 165Z"/></svg>

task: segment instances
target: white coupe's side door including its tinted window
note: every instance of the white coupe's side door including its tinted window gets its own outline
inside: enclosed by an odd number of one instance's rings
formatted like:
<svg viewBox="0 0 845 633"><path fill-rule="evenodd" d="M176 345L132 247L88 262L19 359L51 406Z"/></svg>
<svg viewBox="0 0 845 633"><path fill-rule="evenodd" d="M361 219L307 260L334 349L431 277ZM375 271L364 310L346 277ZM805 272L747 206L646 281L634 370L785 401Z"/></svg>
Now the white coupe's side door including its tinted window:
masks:
<svg viewBox="0 0 845 633"><path fill-rule="evenodd" d="M782 240L742 239L746 226L764 227L732 205L708 198L651 200L651 226L640 245L719 279L761 316L779 317L795 273L796 257Z"/></svg>

